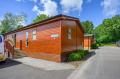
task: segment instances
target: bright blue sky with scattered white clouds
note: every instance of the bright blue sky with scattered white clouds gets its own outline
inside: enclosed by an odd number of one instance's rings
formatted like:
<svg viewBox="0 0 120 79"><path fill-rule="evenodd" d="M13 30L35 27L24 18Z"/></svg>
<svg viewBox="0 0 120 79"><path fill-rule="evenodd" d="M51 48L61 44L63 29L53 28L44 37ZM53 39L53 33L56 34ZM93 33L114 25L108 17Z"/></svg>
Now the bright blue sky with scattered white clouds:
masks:
<svg viewBox="0 0 120 79"><path fill-rule="evenodd" d="M97 26L103 19L120 14L120 0L0 0L0 20L7 12L26 14L25 25L39 14L65 14Z"/></svg>

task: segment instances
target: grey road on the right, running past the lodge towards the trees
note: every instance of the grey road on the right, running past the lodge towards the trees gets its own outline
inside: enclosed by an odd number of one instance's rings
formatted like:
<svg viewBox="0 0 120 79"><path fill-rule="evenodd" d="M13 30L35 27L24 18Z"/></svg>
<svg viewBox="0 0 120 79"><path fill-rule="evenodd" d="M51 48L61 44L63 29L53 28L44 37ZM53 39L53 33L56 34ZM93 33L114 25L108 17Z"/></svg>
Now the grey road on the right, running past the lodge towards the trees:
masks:
<svg viewBox="0 0 120 79"><path fill-rule="evenodd" d="M120 48L101 47L68 79L120 79Z"/></svg>

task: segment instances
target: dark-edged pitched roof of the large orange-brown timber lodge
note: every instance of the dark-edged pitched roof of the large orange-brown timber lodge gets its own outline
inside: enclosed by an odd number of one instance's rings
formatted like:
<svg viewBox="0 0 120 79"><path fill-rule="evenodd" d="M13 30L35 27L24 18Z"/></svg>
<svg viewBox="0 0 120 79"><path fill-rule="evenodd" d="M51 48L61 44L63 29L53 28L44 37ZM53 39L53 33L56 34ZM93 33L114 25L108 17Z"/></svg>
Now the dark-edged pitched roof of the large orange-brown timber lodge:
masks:
<svg viewBox="0 0 120 79"><path fill-rule="evenodd" d="M37 23L33 23L33 24L30 24L30 25L24 26L22 28L19 28L19 29L7 32L4 35L15 33L15 32L21 31L21 30L26 30L26 29L29 29L29 28L32 28L32 27L36 27L37 25L43 25L43 24L46 24L46 23L49 23L49 22L52 22L52 21L62 20L62 19L77 21L79 23L80 28L84 32L84 29L82 28L82 25L81 25L81 23L79 21L79 18L75 18L75 17L59 14L59 15L53 16L51 18L45 19L43 21L40 21L40 22L37 22Z"/></svg>

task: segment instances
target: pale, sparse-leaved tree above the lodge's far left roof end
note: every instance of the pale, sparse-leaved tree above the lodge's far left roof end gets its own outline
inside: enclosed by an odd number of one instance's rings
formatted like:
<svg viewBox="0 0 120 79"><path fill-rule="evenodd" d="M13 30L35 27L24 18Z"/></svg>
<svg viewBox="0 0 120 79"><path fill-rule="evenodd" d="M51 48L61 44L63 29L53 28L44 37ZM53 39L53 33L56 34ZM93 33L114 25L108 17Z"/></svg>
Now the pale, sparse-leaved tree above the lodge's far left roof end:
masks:
<svg viewBox="0 0 120 79"><path fill-rule="evenodd" d="M21 28L25 21L25 15L14 15L6 13L3 20L0 22L0 33L7 33L15 29Z"/></svg>

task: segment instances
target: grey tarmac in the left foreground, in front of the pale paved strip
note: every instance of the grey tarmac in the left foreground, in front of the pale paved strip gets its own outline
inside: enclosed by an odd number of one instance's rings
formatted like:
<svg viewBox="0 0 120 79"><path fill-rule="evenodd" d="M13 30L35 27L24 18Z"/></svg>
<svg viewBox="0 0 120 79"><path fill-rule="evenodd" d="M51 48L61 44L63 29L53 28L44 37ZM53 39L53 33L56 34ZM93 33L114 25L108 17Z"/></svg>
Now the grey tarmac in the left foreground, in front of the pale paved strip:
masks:
<svg viewBox="0 0 120 79"><path fill-rule="evenodd" d="M6 64L0 64L0 79L66 79L72 71L45 71L16 61L7 61Z"/></svg>

